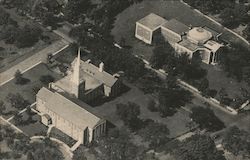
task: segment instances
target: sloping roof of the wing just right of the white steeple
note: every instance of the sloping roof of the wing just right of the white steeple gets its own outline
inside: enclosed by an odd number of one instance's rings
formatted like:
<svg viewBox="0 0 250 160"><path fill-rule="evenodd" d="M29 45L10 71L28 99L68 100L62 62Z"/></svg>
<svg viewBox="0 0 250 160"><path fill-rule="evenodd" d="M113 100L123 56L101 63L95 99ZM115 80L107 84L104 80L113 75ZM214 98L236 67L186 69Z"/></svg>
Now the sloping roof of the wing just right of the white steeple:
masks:
<svg viewBox="0 0 250 160"><path fill-rule="evenodd" d="M106 71L99 71L99 68L96 67L94 64L90 62L84 62L81 60L81 66L80 66L80 73L85 72L89 74L91 77L95 78L96 80L100 81L104 85L107 85L109 87L112 87L118 78L114 77L113 75L109 74Z"/></svg>

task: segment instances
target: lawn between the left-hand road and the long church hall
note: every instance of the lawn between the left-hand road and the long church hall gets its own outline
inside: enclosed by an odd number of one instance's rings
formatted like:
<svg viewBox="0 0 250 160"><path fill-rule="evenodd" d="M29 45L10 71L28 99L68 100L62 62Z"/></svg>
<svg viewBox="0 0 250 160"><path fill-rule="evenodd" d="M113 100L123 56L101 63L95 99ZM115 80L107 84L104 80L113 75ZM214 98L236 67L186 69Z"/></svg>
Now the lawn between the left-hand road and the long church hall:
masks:
<svg viewBox="0 0 250 160"><path fill-rule="evenodd" d="M38 89L42 88L43 86L47 86L43 84L39 79L43 75L51 75L54 77L55 80L58 80L61 78L59 74L56 74L49 70L45 64L39 64L36 67L32 68L31 70L25 72L23 74L24 78L27 78L30 80L25 85L17 85L15 84L15 80L11 80L8 83L4 84L0 87L0 100L3 100L6 105L6 111L5 113L16 111L17 109L10 106L8 102L6 102L6 96L9 93L19 93L21 94L24 99L26 99L29 103L35 102L35 96ZM11 114L4 115L5 118L9 118Z"/></svg>

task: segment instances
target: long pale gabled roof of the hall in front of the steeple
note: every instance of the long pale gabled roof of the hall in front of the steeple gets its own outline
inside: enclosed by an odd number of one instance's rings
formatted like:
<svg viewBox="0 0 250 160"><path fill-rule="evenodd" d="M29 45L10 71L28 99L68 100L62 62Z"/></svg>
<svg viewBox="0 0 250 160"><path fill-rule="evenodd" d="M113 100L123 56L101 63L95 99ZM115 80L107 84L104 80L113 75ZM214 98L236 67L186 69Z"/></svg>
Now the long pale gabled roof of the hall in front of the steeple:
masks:
<svg viewBox="0 0 250 160"><path fill-rule="evenodd" d="M82 105L79 106L61 94L50 91L45 87L40 89L37 93L37 97L45 102L45 106L49 110L55 112L81 129L87 127L94 128L102 121L101 118L84 109L84 107L90 108L88 104L82 103Z"/></svg>

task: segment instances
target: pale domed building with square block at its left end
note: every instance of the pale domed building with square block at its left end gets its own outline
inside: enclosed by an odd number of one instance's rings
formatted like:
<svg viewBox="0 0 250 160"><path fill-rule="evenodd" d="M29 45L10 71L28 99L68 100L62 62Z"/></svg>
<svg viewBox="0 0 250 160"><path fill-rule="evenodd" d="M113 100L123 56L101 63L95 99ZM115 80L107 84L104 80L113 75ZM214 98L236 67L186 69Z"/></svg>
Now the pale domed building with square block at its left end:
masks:
<svg viewBox="0 0 250 160"><path fill-rule="evenodd" d="M145 43L152 44L157 33L162 34L177 53L187 53L190 58L198 53L207 64L217 63L219 50L223 46L218 42L221 33L206 26L191 27L153 13L136 22L135 37Z"/></svg>

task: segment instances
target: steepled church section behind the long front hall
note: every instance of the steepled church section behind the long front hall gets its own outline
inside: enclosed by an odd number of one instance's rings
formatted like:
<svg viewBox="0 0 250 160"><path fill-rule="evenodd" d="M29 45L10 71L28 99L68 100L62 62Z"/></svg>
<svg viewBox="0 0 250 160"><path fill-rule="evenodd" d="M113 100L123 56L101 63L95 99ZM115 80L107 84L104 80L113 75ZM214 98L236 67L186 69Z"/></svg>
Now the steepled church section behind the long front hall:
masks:
<svg viewBox="0 0 250 160"><path fill-rule="evenodd" d="M109 74L104 70L104 63L99 67L90 60L82 61L80 49L78 56L71 64L71 69L63 79L51 83L50 87L60 93L67 93L84 102L98 97L114 97L120 93L121 80L119 74Z"/></svg>

